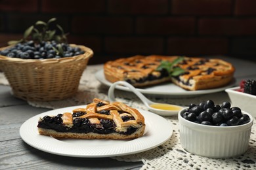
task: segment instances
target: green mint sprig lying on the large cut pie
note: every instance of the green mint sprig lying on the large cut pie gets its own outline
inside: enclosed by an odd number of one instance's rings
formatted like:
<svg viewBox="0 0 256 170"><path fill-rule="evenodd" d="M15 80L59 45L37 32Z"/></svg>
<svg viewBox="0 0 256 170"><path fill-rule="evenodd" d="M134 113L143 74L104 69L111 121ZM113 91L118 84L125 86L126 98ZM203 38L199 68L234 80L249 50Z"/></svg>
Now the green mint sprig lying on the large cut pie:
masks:
<svg viewBox="0 0 256 170"><path fill-rule="evenodd" d="M177 63L180 63L181 61L183 61L183 59L184 59L184 57L179 57L179 58L176 58L175 60L173 60L173 62L161 61L160 65L158 66L156 71L161 71L161 70L165 69L169 73L169 76L179 76L182 73L184 73L185 71L181 67L175 67L175 66L177 65Z"/></svg>

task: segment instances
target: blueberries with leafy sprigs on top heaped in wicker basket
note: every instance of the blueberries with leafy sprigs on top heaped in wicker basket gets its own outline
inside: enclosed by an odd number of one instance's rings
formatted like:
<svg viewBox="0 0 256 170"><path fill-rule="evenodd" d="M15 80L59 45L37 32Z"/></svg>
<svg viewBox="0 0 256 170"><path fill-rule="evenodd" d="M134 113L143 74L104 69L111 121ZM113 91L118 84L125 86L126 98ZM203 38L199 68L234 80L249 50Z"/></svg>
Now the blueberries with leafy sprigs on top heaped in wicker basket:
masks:
<svg viewBox="0 0 256 170"><path fill-rule="evenodd" d="M19 41L10 41L11 46L0 51L1 56L21 59L49 59L78 56L85 52L70 46L66 33L56 24L56 18L48 22L37 21L28 27Z"/></svg>

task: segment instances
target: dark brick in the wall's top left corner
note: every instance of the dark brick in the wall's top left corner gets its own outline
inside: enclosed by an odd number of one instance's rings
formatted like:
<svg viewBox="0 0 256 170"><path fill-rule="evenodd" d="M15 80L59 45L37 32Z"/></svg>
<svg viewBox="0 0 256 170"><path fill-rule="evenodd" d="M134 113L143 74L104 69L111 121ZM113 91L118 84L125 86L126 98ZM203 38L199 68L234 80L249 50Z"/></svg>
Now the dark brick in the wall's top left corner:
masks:
<svg viewBox="0 0 256 170"><path fill-rule="evenodd" d="M36 12L37 0L1 0L1 11Z"/></svg>

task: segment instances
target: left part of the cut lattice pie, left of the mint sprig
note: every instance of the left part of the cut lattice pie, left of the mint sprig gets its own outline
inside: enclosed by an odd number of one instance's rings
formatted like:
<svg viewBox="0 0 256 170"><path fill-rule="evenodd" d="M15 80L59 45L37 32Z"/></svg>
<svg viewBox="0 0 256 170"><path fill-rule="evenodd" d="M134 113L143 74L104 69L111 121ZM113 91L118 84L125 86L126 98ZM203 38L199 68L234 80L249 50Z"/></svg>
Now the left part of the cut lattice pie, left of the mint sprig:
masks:
<svg viewBox="0 0 256 170"><path fill-rule="evenodd" d="M150 86L160 84L170 80L169 76L147 80L149 76L160 76L156 71L162 60L173 61L177 57L166 56L133 56L130 58L120 58L115 61L108 61L104 64L104 75L110 82L120 80L127 81L135 87Z"/></svg>

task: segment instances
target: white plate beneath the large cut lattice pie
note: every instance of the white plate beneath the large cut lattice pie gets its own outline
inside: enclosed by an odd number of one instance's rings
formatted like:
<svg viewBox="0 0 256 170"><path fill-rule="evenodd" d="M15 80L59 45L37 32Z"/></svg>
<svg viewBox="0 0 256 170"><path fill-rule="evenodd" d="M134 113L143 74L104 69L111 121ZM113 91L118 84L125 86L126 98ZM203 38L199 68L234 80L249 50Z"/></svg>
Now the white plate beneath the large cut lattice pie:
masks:
<svg viewBox="0 0 256 170"><path fill-rule="evenodd" d="M96 79L101 82L102 84L105 84L106 86L111 86L112 82L109 82L106 80L104 76L104 71L103 69L100 69L95 73ZM207 93L215 93L215 92L222 92L226 88L230 88L234 86L236 83L236 80L232 80L230 84L227 86L223 86L221 88L214 88L214 89L209 89L209 90L196 90L196 91L188 91L180 88L179 86L176 86L173 83L167 82L163 83L157 86L150 86L146 88L137 88L139 92L144 93L144 94L150 94L150 95L168 95L168 96L174 96L174 97L184 97L184 96L192 96L192 95L202 95L202 94L207 94ZM129 88L124 87L124 86L116 86L117 89L119 90L124 90L127 92L131 92Z"/></svg>

